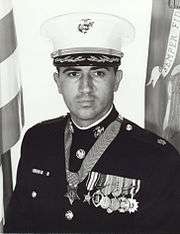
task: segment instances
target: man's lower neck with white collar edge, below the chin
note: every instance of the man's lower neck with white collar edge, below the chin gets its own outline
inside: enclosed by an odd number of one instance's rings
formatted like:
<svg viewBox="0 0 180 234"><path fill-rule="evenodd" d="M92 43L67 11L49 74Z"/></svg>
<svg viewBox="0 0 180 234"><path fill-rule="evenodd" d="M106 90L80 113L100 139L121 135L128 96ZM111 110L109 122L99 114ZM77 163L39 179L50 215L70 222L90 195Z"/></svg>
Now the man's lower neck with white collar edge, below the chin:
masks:
<svg viewBox="0 0 180 234"><path fill-rule="evenodd" d="M71 119L73 121L73 123L76 125L77 128L82 129L82 130L86 130L89 128L94 127L95 125L99 124L100 122L102 122L111 112L113 108L113 105L110 106L110 108L102 115L102 117L98 118L96 121L76 121L76 119L71 115Z"/></svg>

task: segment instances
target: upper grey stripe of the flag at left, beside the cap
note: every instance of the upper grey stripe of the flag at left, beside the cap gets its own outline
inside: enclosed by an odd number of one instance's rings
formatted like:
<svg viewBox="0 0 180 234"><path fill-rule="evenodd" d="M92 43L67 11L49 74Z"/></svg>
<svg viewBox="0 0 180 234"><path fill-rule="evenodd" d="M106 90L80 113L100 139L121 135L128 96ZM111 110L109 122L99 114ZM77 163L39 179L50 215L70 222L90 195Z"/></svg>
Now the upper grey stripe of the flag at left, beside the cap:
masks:
<svg viewBox="0 0 180 234"><path fill-rule="evenodd" d="M0 20L0 63L8 58L17 47L13 10Z"/></svg>

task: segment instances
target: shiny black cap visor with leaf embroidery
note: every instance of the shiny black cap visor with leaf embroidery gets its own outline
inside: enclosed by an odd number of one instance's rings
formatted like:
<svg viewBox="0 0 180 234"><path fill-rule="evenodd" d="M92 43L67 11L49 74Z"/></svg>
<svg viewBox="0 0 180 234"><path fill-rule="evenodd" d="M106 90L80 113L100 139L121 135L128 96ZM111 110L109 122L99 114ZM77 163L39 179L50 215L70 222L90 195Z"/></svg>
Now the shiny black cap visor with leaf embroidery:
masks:
<svg viewBox="0 0 180 234"><path fill-rule="evenodd" d="M74 54L54 58L54 66L119 66L121 58L103 54Z"/></svg>

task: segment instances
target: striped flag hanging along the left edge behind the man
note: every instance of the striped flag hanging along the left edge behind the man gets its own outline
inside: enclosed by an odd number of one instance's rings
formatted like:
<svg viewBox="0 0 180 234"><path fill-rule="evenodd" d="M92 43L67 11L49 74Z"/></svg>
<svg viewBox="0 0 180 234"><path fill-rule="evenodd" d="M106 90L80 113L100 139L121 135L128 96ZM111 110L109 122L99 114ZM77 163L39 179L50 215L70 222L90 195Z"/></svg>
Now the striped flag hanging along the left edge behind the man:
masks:
<svg viewBox="0 0 180 234"><path fill-rule="evenodd" d="M22 87L17 57L17 40L11 0L0 0L0 228L2 229L4 208L3 180L6 168L2 168L4 157L18 141L24 124ZM2 170L3 169L3 170ZM3 171L3 173L2 173ZM4 178L3 178L4 177ZM11 178L12 179L12 178ZM5 184L5 183L4 183ZM5 187L7 187L6 185ZM4 197L5 199L5 197ZM2 230L0 230L1 232Z"/></svg>

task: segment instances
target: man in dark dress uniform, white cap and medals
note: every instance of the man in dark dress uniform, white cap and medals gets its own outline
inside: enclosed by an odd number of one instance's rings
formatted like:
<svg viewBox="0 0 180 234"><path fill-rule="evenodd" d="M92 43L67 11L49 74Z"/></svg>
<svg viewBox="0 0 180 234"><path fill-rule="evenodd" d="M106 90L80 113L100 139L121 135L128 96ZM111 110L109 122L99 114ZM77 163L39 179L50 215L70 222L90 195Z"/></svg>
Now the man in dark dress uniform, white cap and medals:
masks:
<svg viewBox="0 0 180 234"><path fill-rule="evenodd" d="M42 31L53 41L54 79L70 113L27 131L5 231L180 233L179 155L113 105L134 27L72 13Z"/></svg>

